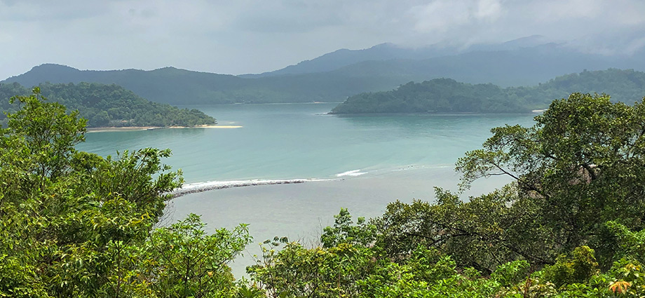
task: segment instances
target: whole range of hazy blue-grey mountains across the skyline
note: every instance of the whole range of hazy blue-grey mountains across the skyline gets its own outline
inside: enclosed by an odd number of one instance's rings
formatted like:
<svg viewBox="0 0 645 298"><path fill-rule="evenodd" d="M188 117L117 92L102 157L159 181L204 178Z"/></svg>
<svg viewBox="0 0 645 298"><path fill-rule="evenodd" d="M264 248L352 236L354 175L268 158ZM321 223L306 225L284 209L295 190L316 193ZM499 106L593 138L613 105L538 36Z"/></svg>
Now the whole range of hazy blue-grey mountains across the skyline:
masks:
<svg viewBox="0 0 645 298"><path fill-rule="evenodd" d="M409 81L449 78L464 83L534 86L556 76L608 68L645 70L645 52L602 55L528 36L498 44L404 48L383 43L336 50L264 74L233 76L174 67L95 71L39 65L2 83L116 83L144 98L170 104L341 102L363 92L391 90ZM581 90L584 91L584 90Z"/></svg>

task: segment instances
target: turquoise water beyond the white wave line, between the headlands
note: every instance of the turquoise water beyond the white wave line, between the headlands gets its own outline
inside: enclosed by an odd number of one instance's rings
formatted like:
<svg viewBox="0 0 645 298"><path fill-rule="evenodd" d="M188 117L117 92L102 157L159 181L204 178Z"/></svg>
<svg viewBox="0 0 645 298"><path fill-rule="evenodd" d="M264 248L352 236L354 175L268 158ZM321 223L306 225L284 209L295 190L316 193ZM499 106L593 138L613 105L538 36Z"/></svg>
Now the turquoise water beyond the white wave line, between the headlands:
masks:
<svg viewBox="0 0 645 298"><path fill-rule="evenodd" d="M191 106L221 125L243 127L88 133L78 148L102 156L125 149L170 148L173 155L166 163L182 168L186 183L355 177L410 167L452 167L464 152L480 147L490 128L531 125L533 117L325 114L334 106Z"/></svg>

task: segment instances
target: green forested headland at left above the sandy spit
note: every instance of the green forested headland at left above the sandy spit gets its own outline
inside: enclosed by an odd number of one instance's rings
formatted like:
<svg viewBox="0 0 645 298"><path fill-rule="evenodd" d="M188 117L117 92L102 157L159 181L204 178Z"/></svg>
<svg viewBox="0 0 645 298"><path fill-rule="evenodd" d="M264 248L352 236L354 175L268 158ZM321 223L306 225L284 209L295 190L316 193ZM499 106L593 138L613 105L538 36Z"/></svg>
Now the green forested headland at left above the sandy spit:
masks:
<svg viewBox="0 0 645 298"><path fill-rule="evenodd" d="M41 94L68 110L78 109L89 127L102 126L196 126L214 124L215 119L197 109L178 109L170 104L151 102L117 85L100 83L43 83ZM19 83L0 83L0 108L18 109L18 103L9 104L15 95L29 95L31 90ZM0 115L0 123L6 121Z"/></svg>

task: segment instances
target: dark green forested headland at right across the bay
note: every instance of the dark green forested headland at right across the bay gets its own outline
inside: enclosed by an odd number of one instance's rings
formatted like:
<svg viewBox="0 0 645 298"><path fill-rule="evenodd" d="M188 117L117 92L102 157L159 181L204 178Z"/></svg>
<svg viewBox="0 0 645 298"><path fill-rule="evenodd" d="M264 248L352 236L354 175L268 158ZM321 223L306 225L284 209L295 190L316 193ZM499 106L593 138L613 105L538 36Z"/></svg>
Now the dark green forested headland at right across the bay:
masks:
<svg viewBox="0 0 645 298"><path fill-rule="evenodd" d="M410 82L391 91L348 97L332 114L527 112L544 109L552 100L574 92L606 93L614 101L633 103L645 96L645 73L631 69L585 71L558 76L538 86L509 88L460 83L453 79Z"/></svg>

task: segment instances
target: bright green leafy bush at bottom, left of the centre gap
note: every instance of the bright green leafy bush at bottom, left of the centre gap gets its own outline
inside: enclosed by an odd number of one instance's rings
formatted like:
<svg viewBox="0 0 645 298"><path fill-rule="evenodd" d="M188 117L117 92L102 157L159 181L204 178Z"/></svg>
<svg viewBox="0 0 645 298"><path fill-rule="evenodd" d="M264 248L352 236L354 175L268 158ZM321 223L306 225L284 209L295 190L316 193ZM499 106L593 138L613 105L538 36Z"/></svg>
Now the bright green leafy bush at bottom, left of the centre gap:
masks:
<svg viewBox="0 0 645 298"><path fill-rule="evenodd" d="M230 297L235 293L227 264L250 243L247 226L207 235L198 215L153 231L139 260L139 278L158 297Z"/></svg>

